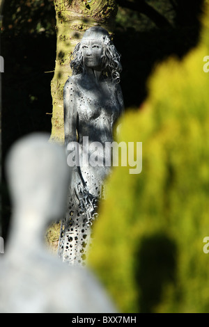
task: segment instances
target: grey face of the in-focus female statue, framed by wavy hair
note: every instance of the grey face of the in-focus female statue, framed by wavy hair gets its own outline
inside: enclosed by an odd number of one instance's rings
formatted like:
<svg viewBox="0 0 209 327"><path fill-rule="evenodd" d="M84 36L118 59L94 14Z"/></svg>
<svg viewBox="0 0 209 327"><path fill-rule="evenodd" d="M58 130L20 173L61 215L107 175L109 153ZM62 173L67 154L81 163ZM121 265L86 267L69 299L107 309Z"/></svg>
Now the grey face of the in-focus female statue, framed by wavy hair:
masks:
<svg viewBox="0 0 209 327"><path fill-rule="evenodd" d="M102 66L103 45L100 41L85 40L82 42L84 65L93 69Z"/></svg>

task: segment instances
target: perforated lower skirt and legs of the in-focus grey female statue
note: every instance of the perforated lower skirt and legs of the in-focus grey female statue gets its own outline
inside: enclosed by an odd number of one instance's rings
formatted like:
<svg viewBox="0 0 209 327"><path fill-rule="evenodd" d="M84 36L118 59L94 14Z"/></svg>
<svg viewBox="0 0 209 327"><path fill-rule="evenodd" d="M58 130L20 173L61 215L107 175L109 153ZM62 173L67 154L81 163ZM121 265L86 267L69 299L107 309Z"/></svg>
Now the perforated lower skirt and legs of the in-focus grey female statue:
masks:
<svg viewBox="0 0 209 327"><path fill-rule="evenodd" d="M58 255L63 262L69 264L85 264L92 241L91 223L98 216L98 199L104 198L104 185L95 177L95 170L90 172L91 168L82 172L86 186L77 174L72 176L68 207L61 223Z"/></svg>

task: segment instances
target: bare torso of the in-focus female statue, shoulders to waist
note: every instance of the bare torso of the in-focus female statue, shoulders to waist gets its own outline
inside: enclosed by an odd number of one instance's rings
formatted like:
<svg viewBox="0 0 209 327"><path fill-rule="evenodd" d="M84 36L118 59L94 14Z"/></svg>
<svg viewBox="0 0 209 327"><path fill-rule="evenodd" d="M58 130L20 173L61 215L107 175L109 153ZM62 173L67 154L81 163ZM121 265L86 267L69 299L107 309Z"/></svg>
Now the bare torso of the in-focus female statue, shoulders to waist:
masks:
<svg viewBox="0 0 209 327"><path fill-rule="evenodd" d="M103 144L113 141L112 131L120 111L115 87L107 80L100 88L91 88L85 79L78 79L77 86L81 95L77 99L79 141L83 136Z"/></svg>

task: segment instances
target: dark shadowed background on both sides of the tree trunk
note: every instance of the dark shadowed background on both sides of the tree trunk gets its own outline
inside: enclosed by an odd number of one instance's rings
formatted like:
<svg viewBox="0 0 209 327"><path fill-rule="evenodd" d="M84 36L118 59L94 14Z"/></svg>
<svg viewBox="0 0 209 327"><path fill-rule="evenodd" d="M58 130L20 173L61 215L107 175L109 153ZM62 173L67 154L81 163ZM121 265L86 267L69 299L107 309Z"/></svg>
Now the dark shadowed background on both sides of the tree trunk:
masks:
<svg viewBox="0 0 209 327"><path fill-rule="evenodd" d="M139 6L139 2L147 6ZM122 54L121 87L125 108L139 108L156 62L182 58L199 40L201 1L118 1L114 43ZM128 8L130 7L130 8ZM10 0L1 27L2 158L10 145L31 131L51 131L50 83L56 58L53 0ZM3 166L3 165L2 165ZM4 175L3 175L4 176ZM4 179L3 179L4 181ZM3 237L10 209L3 191Z"/></svg>

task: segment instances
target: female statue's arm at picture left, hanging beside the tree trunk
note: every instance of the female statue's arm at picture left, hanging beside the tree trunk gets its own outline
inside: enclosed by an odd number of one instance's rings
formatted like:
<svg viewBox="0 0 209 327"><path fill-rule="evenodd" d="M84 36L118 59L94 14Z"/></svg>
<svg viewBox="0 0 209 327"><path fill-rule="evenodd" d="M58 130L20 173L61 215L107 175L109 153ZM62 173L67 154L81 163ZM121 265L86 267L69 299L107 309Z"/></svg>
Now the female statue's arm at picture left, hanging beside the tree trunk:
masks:
<svg viewBox="0 0 209 327"><path fill-rule="evenodd" d="M70 142L77 141L77 102L75 83L72 78L66 81L63 89L65 149ZM70 149L67 151L67 154Z"/></svg>

